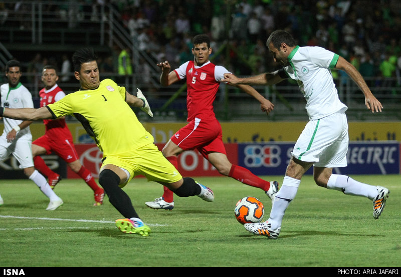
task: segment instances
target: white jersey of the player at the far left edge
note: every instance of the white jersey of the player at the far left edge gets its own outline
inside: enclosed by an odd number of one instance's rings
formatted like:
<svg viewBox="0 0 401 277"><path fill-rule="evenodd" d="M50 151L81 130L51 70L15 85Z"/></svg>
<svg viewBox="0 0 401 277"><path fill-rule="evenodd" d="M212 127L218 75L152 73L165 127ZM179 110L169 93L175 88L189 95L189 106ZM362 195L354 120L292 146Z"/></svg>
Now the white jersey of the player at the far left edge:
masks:
<svg viewBox="0 0 401 277"><path fill-rule="evenodd" d="M29 90L21 83L15 88L10 88L9 84L0 86L0 93L2 95L2 107L17 109L17 108L33 108L32 95ZM3 134L8 134L15 126L19 125L23 120L15 120L10 118L3 118L4 131ZM20 136L23 134L31 135L29 126L19 132Z"/></svg>

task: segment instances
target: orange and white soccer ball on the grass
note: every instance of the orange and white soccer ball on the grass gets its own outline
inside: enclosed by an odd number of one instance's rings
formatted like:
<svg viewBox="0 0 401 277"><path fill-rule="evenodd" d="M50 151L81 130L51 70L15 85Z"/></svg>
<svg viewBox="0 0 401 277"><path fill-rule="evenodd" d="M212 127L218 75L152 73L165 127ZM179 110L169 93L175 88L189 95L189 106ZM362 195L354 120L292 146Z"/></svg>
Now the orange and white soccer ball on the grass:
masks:
<svg viewBox="0 0 401 277"><path fill-rule="evenodd" d="M241 224L257 223L263 220L265 208L258 198L247 196L237 202L234 214Z"/></svg>

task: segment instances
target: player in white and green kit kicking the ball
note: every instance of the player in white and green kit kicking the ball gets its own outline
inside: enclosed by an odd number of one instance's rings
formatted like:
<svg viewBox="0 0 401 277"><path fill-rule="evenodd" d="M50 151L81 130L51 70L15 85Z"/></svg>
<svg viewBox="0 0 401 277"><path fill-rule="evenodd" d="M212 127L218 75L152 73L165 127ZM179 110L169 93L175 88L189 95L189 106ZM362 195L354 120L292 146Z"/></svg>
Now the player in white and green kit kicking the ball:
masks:
<svg viewBox="0 0 401 277"><path fill-rule="evenodd" d="M249 78L225 74L223 82L248 85L273 85L286 78L296 80L306 100L309 122L291 152L281 189L277 193L270 218L261 223L247 223L251 233L277 238L284 212L294 199L302 176L313 165L313 177L318 186L342 191L348 195L373 200L373 217L383 211L388 189L357 182L333 174L334 167L347 166L348 124L347 107L338 98L331 69L343 70L358 85L365 96L367 109L381 112L381 103L373 96L359 72L344 58L321 47L299 47L292 36L281 30L273 32L266 42L276 62L283 68Z"/></svg>

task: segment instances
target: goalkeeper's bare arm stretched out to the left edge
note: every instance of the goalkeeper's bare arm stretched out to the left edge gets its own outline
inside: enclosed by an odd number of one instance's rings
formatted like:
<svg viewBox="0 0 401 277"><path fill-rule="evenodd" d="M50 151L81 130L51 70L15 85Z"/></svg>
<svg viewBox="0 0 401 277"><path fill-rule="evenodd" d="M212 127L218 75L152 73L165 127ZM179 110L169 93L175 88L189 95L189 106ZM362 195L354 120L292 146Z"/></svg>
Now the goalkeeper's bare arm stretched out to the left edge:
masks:
<svg viewBox="0 0 401 277"><path fill-rule="evenodd" d="M47 107L41 107L39 109L34 108L23 108L23 109L9 109L0 108L0 116L18 120L42 120L42 119L53 119L52 113Z"/></svg>

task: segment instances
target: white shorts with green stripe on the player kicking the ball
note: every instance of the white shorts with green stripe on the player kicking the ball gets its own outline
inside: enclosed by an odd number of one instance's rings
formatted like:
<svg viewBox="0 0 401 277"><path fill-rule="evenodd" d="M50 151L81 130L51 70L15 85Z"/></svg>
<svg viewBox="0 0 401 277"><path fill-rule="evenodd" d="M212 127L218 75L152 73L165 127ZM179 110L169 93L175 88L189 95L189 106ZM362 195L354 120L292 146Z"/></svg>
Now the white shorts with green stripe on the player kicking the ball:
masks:
<svg viewBox="0 0 401 277"><path fill-rule="evenodd" d="M338 112L310 120L295 143L291 154L318 167L347 166L348 123L345 113Z"/></svg>

